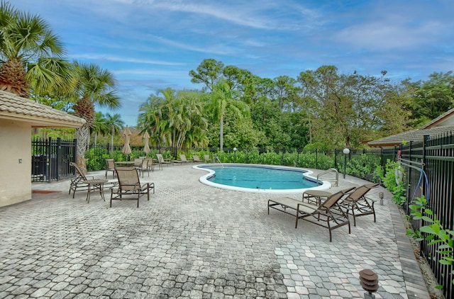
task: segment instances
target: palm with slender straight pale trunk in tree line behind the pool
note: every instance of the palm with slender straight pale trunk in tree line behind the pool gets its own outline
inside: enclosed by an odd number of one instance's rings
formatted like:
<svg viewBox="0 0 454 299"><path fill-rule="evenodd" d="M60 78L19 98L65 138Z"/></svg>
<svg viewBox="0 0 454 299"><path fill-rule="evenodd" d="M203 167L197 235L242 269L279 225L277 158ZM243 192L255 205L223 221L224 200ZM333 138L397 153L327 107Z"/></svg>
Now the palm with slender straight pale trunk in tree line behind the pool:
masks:
<svg viewBox="0 0 454 299"><path fill-rule="evenodd" d="M234 99L233 91L228 82L221 80L214 86L209 107L213 111L214 120L219 121L219 148L223 150L223 123L226 111L231 110L239 118L242 118L244 115L248 115L249 106L243 101Z"/></svg>

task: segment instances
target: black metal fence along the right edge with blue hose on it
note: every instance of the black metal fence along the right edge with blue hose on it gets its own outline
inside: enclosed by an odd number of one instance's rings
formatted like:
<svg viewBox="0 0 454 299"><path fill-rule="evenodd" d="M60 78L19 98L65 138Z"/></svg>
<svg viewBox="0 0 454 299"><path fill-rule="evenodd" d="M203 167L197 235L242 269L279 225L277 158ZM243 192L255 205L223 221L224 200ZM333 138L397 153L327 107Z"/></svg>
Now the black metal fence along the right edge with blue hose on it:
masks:
<svg viewBox="0 0 454 299"><path fill-rule="evenodd" d="M440 136L424 136L423 142L409 142L398 152L404 166L407 215L409 205L416 197L425 196L426 208L433 210L445 230L453 230L454 219L454 136L452 133ZM414 230L428 225L424 220L412 221ZM450 235L453 238L453 235ZM440 243L429 245L421 242L421 254L426 257L438 283L443 286L445 298L454 296L453 265L440 263ZM454 256L451 256L454 257Z"/></svg>

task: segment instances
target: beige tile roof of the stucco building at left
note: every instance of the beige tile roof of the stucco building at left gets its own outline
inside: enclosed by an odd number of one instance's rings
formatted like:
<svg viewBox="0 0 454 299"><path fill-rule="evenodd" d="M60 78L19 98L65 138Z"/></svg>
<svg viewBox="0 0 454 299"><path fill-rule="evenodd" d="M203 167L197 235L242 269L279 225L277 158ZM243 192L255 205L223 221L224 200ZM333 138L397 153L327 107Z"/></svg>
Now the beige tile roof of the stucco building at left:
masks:
<svg viewBox="0 0 454 299"><path fill-rule="evenodd" d="M79 128L85 120L50 106L0 91L0 119L31 123L35 128Z"/></svg>

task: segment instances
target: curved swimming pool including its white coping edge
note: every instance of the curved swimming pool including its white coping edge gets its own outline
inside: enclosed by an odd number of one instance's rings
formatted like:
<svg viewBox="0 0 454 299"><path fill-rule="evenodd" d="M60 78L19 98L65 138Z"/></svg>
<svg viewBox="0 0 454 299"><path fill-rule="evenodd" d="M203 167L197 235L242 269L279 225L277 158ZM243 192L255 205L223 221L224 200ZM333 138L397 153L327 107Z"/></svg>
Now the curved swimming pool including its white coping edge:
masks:
<svg viewBox="0 0 454 299"><path fill-rule="evenodd" d="M199 181L234 191L253 193L303 193L307 189L326 190L328 182L319 182L311 171L297 167L258 164L200 164L193 168L208 171Z"/></svg>

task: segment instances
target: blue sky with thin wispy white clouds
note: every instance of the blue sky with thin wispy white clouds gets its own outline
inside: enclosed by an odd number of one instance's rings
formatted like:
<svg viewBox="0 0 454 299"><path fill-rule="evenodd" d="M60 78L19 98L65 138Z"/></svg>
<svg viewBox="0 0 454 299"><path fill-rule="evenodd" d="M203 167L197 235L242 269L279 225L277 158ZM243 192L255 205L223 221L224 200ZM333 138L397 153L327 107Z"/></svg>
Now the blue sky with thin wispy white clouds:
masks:
<svg viewBox="0 0 454 299"><path fill-rule="evenodd" d="M393 81L454 69L452 0L10 0L38 14L68 60L98 64L117 81L125 124L148 96L201 89L204 59L273 79L334 65Z"/></svg>

